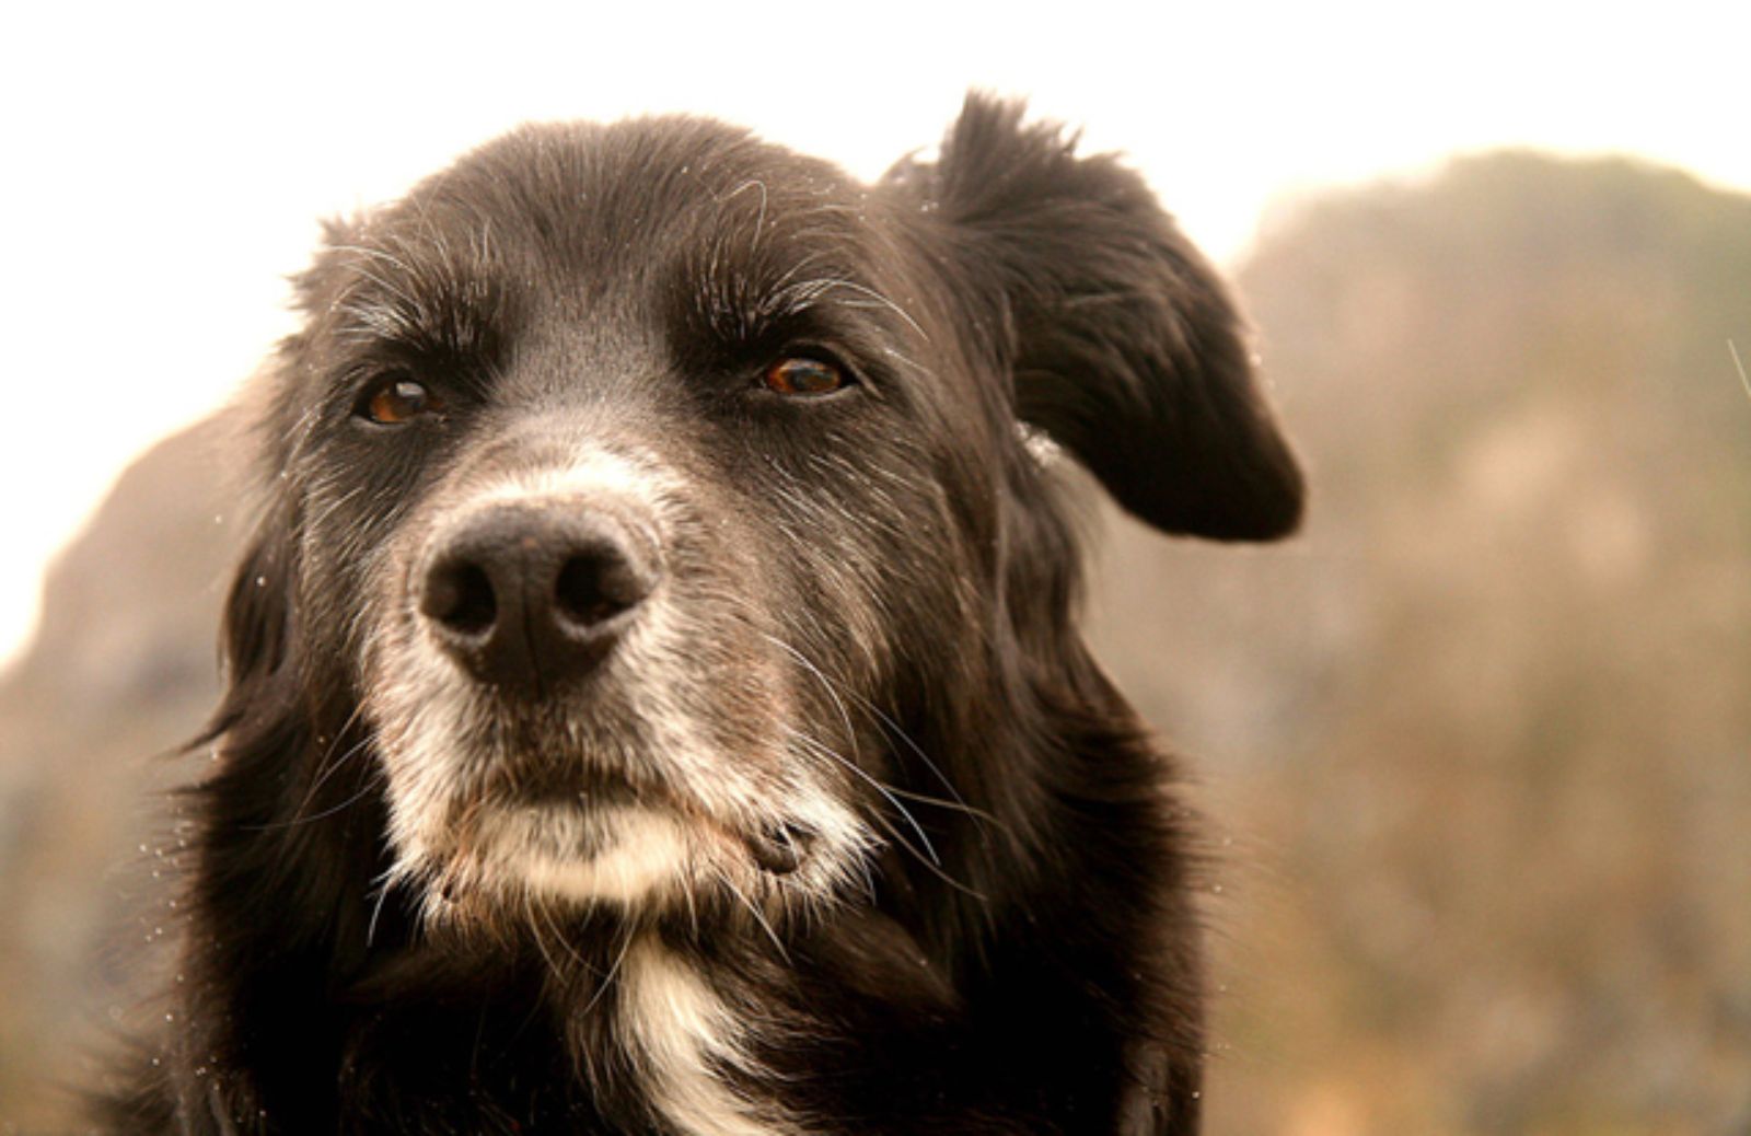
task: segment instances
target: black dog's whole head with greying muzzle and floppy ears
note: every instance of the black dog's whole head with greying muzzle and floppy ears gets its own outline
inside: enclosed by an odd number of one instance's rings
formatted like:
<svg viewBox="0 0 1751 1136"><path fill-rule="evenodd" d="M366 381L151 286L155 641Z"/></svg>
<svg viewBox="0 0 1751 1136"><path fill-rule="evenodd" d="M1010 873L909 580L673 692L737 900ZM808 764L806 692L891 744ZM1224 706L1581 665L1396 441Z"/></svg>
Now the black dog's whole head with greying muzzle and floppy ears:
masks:
<svg viewBox="0 0 1751 1136"><path fill-rule="evenodd" d="M1168 532L1299 513L1210 268L989 100L876 186L704 121L529 128L334 226L299 296L224 721L308 709L299 809L375 763L431 912L783 912L939 856L921 812L1009 816L986 751L1080 653L1031 439Z"/></svg>

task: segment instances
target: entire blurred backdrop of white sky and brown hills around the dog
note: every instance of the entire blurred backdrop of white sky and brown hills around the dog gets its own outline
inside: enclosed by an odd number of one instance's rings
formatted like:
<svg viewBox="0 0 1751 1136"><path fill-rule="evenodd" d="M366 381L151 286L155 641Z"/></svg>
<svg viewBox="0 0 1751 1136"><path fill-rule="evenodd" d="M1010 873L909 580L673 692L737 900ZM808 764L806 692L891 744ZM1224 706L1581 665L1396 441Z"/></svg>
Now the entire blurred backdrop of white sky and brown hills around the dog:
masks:
<svg viewBox="0 0 1751 1136"><path fill-rule="evenodd" d="M0 1132L70 1131L163 935L247 523L212 415L317 221L524 119L874 177L968 86L1131 156L1313 480L1283 546L1096 541L1210 816L1210 1131L1751 1132L1747 46L1683 0L0 18Z"/></svg>

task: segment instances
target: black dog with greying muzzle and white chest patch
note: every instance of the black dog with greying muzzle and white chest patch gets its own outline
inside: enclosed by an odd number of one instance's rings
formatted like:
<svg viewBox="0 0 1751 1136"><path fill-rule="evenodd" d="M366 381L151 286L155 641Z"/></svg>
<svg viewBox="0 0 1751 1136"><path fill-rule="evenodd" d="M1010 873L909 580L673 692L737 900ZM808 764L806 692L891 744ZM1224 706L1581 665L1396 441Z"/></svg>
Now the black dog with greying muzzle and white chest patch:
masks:
<svg viewBox="0 0 1751 1136"><path fill-rule="evenodd" d="M1241 319L1019 103L858 184L522 128L331 222L126 1132L1198 1131L1196 833L1080 462L1289 534Z"/></svg>

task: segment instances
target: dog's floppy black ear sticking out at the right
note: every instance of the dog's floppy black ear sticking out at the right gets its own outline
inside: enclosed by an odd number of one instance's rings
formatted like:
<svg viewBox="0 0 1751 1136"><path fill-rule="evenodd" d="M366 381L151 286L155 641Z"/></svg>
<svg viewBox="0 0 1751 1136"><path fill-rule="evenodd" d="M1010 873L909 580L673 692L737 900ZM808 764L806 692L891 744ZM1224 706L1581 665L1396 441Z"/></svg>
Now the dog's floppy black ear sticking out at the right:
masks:
<svg viewBox="0 0 1751 1136"><path fill-rule="evenodd" d="M1077 158L1021 103L974 95L935 165L902 163L995 319L1017 415L1166 532L1266 541L1303 481L1213 270L1112 156ZM995 306L995 312L991 308Z"/></svg>

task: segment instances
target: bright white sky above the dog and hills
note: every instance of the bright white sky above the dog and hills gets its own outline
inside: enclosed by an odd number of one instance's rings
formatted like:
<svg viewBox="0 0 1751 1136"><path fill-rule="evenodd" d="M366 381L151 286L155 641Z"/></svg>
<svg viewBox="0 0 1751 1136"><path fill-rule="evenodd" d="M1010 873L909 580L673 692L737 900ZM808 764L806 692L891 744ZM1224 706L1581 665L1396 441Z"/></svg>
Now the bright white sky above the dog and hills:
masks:
<svg viewBox="0 0 1751 1136"><path fill-rule="evenodd" d="M1283 194L1455 151L1632 152L1751 189L1744 0L14 5L0 658L117 473L289 331L317 217L518 121L646 110L874 177L968 86L1128 151L1222 259Z"/></svg>

